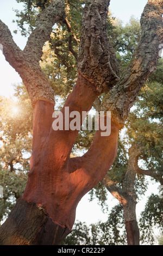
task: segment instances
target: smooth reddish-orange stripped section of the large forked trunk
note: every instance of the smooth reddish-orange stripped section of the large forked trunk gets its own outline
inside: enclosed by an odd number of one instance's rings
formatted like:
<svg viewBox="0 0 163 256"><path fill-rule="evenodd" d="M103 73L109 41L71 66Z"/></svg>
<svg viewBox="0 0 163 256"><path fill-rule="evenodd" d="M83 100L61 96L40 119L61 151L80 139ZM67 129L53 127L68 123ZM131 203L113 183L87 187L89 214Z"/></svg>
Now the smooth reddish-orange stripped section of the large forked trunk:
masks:
<svg viewBox="0 0 163 256"><path fill-rule="evenodd" d="M64 108L68 106L70 112L89 111L97 95L96 88L85 78L79 76ZM63 113L64 108L62 109ZM45 244L43 239L36 239L36 237L41 237L46 232L49 223L53 223L54 229L60 230L59 233L58 231L52 232L52 236L58 236L58 238L51 237L50 243L56 244L68 234L72 229L80 199L102 180L117 154L118 127L112 122L110 136L101 137L99 129L87 153L82 157L70 158L79 131L54 131L52 129L53 112L54 105L51 102L37 101L34 109L31 169L26 190L16 209L23 205L26 210L28 209L27 212L30 212L30 205L34 204L34 211L40 214L41 209L41 216L43 213L45 216L38 224L40 228L35 228L34 234L31 234L29 240L24 238L22 229L28 229L37 218L36 215L27 214L24 210L24 216L21 214L17 217L15 230L20 230L23 236L20 243L25 241L23 244L36 244L38 241L40 244ZM47 224L43 225L42 220L45 217ZM4 223L2 227L6 232L5 236L10 237L9 240L3 239L2 244L8 244L8 241L11 244L18 244L16 242L18 239L13 239L14 242L11 242L11 234L7 228L10 221L14 220L15 222L14 218L12 212L8 222ZM26 222L23 227L20 227L22 218Z"/></svg>

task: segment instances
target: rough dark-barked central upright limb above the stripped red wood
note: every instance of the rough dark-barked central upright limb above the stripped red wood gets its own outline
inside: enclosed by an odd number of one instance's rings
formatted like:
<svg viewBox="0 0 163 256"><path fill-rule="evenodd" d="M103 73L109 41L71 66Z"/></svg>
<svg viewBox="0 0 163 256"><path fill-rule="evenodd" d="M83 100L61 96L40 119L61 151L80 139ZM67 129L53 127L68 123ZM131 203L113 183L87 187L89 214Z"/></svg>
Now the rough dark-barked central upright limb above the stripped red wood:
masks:
<svg viewBox="0 0 163 256"><path fill-rule="evenodd" d="M119 80L115 52L106 36L108 0L87 0L83 12L78 72L98 93L107 92Z"/></svg>

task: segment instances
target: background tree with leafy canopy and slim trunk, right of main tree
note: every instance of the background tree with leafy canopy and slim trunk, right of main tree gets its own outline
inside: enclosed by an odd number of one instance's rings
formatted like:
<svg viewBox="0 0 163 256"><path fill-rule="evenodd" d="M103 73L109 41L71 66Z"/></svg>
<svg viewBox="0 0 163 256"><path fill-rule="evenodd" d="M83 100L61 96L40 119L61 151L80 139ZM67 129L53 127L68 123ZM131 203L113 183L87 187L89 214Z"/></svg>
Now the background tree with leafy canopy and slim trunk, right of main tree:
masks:
<svg viewBox="0 0 163 256"><path fill-rule="evenodd" d="M162 185L162 59L158 69L149 77L146 86L142 88L137 97L134 111L129 114L126 122L126 138L119 144L119 154L108 174L104 178L104 185L108 191L123 205L124 222L127 223L126 231L128 244L134 244L137 239L139 244L139 228L136 221L137 199L145 193L148 184L145 176L151 176L152 180ZM126 145L126 146L125 146ZM128 150L129 148L129 150ZM120 150L121 149L121 150ZM143 160L143 167L140 161ZM144 168L144 169L142 169ZM98 188L91 192L98 194L99 199L106 199L105 191ZM153 210L149 207L153 202ZM139 225L141 229L141 240L153 243L153 229L156 224L162 229L162 204L159 196L151 196L142 213ZM155 210L154 210L155 209ZM149 215L147 215L147 211ZM158 214L156 214L158 211ZM149 218L150 216L150 218ZM147 221L148 220L148 221ZM129 223L128 223L129 222ZM135 222L136 229L133 235L130 225ZM146 224L145 224L146 222ZM150 223L150 224L149 224ZM129 227L128 227L129 225ZM137 231L136 231L137 230ZM146 230L146 231L145 231Z"/></svg>

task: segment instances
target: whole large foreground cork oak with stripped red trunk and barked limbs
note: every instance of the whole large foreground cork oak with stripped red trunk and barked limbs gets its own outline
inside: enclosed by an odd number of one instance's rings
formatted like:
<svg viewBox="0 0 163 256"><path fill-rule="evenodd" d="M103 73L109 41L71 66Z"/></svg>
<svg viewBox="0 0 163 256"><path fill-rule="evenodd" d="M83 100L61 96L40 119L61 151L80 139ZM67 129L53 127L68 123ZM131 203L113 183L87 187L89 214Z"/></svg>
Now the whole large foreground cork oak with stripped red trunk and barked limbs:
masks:
<svg viewBox="0 0 163 256"><path fill-rule="evenodd" d="M34 107L33 153L27 187L0 228L0 245L58 244L72 229L80 199L104 178L115 160L118 131L159 58L162 0L148 1L142 15L139 47L121 79L114 49L106 37L109 3L85 2L78 81L61 111L64 117L65 107L70 112L87 112L99 95L113 88L101 106L104 111L112 111L111 134L102 137L99 129L82 157L70 158L78 130L52 128L54 91L39 66L42 47L49 40L54 23L65 20L64 0L52 1L42 11L23 51L0 20L4 56L20 74Z"/></svg>

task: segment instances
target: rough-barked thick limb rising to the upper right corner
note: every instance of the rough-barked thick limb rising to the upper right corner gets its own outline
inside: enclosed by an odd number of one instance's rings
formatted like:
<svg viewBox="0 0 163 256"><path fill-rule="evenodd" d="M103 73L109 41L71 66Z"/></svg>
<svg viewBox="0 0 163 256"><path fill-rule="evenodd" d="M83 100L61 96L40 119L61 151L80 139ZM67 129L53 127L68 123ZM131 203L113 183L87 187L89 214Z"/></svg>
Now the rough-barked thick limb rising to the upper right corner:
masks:
<svg viewBox="0 0 163 256"><path fill-rule="evenodd" d="M149 0L141 16L141 39L133 60L121 81L105 96L101 110L111 111L112 118L123 127L131 106L159 58L163 37L162 0Z"/></svg>

